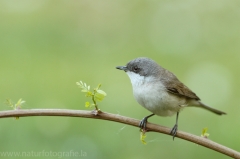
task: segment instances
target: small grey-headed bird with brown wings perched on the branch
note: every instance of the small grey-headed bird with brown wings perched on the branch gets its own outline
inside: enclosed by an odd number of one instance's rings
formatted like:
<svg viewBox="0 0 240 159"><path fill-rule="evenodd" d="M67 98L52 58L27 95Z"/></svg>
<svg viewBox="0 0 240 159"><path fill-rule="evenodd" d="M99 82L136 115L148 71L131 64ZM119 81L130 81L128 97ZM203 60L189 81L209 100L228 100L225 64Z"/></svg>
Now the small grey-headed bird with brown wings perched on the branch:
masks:
<svg viewBox="0 0 240 159"><path fill-rule="evenodd" d="M179 112L184 107L199 107L217 115L226 114L202 103L200 98L180 82L172 72L164 69L152 59L139 57L128 62L126 66L116 68L127 73L132 83L135 99L152 112L139 124L144 131L147 131L146 125L149 117L177 114L176 123L170 132L174 139L178 130Z"/></svg>

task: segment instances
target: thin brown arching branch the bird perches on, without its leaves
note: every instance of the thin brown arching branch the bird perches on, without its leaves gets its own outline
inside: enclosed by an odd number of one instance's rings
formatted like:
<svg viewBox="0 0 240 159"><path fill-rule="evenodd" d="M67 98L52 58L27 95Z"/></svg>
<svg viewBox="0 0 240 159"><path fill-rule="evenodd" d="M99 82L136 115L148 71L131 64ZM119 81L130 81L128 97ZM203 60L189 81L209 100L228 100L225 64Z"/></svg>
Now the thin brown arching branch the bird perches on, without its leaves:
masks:
<svg viewBox="0 0 240 159"><path fill-rule="evenodd" d="M0 118L7 117L27 117L27 116L68 116L68 117L83 117L83 118L93 118L93 119L102 119L115 121L131 126L138 127L139 120L117 115L110 114L105 112L99 112L98 115L94 115L92 111L85 110L69 110L69 109L26 109L26 110L9 110L9 111L0 111ZM148 123L147 129L152 132L163 133L166 135L170 134L171 129L168 127ZM183 131L177 131L176 137L202 145L209 149L215 150L222 154L225 154L229 157L240 159L240 152L237 152L233 149L230 149L226 146L220 145L216 142L213 142L209 139L192 135Z"/></svg>

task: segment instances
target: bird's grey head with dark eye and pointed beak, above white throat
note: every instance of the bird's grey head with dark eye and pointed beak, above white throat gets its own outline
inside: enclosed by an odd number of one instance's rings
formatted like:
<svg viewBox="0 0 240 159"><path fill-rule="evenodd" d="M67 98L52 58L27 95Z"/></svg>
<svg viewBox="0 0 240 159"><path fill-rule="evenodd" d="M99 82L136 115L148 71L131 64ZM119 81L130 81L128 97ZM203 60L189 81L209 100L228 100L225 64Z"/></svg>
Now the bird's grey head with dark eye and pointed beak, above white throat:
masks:
<svg viewBox="0 0 240 159"><path fill-rule="evenodd" d="M117 66L116 68L124 70L128 75L133 73L144 77L157 76L161 70L161 67L155 61L146 57L133 59L126 66Z"/></svg>

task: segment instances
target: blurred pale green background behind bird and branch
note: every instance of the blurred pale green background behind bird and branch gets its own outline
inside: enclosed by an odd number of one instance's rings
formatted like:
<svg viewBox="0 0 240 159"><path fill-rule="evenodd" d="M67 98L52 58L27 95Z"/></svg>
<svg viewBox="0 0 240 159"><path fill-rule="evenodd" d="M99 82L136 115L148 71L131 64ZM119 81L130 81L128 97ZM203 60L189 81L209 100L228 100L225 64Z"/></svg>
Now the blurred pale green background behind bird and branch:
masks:
<svg viewBox="0 0 240 159"><path fill-rule="evenodd" d="M142 119L150 112L134 100L129 78L115 66L146 56L204 103L227 112L219 117L186 108L179 130L200 135L208 127L211 140L240 151L239 1L1 0L0 20L1 110L11 109L4 104L8 98L23 98L24 109L86 110L88 99L76 85L83 80L102 84L108 95L101 110ZM172 127L175 116L149 121ZM71 152L62 158L88 159L228 158L168 135L147 133L147 145L139 137L138 128L103 120L0 121L1 152L34 152L44 159L61 158L61 152Z"/></svg>

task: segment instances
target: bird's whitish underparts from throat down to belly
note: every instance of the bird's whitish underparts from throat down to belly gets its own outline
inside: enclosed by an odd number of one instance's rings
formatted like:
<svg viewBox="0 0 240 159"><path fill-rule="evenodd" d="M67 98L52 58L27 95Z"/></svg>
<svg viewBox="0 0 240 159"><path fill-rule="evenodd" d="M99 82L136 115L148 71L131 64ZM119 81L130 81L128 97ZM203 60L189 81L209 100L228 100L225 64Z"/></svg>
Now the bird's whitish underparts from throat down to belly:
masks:
<svg viewBox="0 0 240 159"><path fill-rule="evenodd" d="M129 71L127 75L131 80L137 102L156 115L174 115L186 102L185 99L169 94L160 80Z"/></svg>

